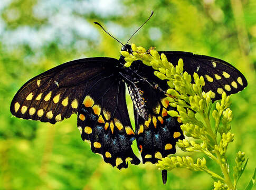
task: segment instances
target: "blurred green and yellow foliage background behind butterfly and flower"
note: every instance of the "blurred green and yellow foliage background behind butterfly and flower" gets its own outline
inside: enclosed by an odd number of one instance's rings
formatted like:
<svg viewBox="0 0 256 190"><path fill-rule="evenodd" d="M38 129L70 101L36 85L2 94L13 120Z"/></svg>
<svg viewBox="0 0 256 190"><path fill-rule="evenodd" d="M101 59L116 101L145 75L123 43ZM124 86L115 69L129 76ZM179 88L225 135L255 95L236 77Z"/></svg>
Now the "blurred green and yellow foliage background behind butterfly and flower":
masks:
<svg viewBox="0 0 256 190"><path fill-rule="evenodd" d="M169 172L163 185L155 165L112 168L83 143L75 115L56 125L11 116L14 94L35 75L74 59L119 58L121 45L94 21L125 43L151 10L154 16L130 42L214 56L248 80L248 87L232 96L235 140L227 152L231 169L237 151L249 157L238 185L245 187L256 166L255 0L1 0L1 190L213 188L210 176L186 169ZM184 154L178 150L177 155ZM218 166L207 162L219 173Z"/></svg>

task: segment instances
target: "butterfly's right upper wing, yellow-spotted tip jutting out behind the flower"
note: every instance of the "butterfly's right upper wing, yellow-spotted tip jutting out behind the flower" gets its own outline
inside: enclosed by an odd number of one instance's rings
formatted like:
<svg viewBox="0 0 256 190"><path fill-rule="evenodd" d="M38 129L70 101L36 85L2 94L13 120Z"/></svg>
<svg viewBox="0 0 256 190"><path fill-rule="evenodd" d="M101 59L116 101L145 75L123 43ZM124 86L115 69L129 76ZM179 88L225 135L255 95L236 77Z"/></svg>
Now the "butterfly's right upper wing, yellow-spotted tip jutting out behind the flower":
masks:
<svg viewBox="0 0 256 190"><path fill-rule="evenodd" d="M159 51L158 53L164 53L173 65L176 65L179 59L183 59L184 70L188 74L193 76L196 72L199 76L203 76L205 86L202 89L205 92L210 90L214 92L213 101L221 99L223 91L229 95L240 92L247 86L244 75L223 60L180 51Z"/></svg>

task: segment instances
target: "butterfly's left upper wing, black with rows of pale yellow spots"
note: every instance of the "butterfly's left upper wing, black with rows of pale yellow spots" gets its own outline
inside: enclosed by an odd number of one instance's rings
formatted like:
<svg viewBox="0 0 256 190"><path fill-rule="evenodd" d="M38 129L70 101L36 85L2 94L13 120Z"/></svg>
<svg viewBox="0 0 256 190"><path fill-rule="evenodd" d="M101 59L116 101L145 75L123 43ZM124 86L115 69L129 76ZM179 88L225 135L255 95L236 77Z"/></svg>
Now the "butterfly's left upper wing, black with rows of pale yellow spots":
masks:
<svg viewBox="0 0 256 190"><path fill-rule="evenodd" d="M14 116L55 124L77 113L86 85L106 77L118 63L113 58L74 60L27 81L11 103Z"/></svg>

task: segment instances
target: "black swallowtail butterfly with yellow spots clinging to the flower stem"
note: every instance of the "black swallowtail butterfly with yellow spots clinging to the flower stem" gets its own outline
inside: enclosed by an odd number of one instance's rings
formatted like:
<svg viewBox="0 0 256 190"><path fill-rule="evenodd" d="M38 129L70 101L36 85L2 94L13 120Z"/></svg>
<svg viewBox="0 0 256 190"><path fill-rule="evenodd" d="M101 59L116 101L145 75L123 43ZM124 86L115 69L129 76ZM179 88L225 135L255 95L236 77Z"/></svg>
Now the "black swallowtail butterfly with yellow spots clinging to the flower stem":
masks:
<svg viewBox="0 0 256 190"><path fill-rule="evenodd" d="M132 52L129 44L121 50ZM174 65L183 59L188 74L202 75L203 90L212 90L214 100L220 99L223 91L229 95L247 86L243 74L223 60L188 52L161 53ZM55 124L77 113L82 140L88 141L93 153L101 154L106 163L119 169L127 168L128 161L139 164L131 149L135 139L143 163L156 163L174 154L176 141L184 139L181 121L167 115L167 110L176 108L169 106L166 95L159 90L168 89L166 81L158 79L153 68L140 60L129 68L124 67L125 63L122 55L119 60L86 58L39 74L16 93L12 115ZM128 116L125 84L134 105L135 131Z"/></svg>

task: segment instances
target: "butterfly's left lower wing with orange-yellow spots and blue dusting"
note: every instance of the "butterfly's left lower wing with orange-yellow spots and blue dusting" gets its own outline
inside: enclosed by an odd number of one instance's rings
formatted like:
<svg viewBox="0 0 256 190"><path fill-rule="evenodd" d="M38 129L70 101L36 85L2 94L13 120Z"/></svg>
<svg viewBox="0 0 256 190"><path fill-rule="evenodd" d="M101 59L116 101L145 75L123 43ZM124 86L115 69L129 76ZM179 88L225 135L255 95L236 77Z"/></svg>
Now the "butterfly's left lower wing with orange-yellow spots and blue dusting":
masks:
<svg viewBox="0 0 256 190"><path fill-rule="evenodd" d="M93 153L100 154L113 167L127 168L140 160L131 149L136 139L125 100L125 83L115 77L99 79L86 88L78 111L78 128ZM88 83L90 84L90 82Z"/></svg>

